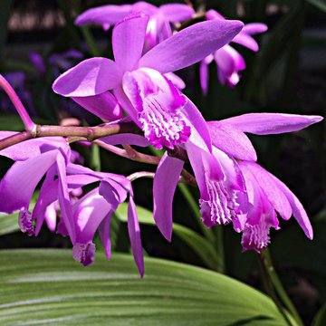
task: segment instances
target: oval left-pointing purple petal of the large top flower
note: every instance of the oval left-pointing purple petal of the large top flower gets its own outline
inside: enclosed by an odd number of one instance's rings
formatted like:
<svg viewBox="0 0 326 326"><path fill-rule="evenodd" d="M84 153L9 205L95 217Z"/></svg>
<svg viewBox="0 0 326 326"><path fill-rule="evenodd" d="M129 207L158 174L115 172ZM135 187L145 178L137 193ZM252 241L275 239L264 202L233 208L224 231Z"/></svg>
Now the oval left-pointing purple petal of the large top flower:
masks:
<svg viewBox="0 0 326 326"><path fill-rule="evenodd" d="M62 73L53 82L53 91L70 97L101 94L116 88L121 82L118 65L106 58L91 58Z"/></svg>

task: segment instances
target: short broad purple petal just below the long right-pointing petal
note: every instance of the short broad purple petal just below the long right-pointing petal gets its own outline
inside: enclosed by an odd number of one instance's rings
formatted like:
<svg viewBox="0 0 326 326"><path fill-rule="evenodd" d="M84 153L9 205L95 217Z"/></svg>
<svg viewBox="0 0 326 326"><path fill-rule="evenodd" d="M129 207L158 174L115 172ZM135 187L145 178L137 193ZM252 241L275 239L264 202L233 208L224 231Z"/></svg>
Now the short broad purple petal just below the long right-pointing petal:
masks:
<svg viewBox="0 0 326 326"><path fill-rule="evenodd" d="M233 158L256 161L257 156L245 133L220 121L208 121L212 143Z"/></svg>

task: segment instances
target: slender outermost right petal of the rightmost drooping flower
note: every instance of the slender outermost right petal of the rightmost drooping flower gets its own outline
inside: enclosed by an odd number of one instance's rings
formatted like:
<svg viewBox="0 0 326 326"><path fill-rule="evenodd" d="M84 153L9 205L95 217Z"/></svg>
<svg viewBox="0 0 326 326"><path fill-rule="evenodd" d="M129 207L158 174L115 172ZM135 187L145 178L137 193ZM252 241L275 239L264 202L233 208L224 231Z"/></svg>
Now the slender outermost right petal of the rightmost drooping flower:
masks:
<svg viewBox="0 0 326 326"><path fill-rule="evenodd" d="M309 217L307 216L306 211L304 210L302 203L299 201L299 199L292 193L292 191L286 187L281 180L279 180L277 177L273 177L273 180L277 184L278 187L280 187L284 193L284 195L287 197L287 199L290 202L290 205L292 207L292 215L297 220L298 224L301 226L304 234L312 240L313 238L313 230L312 230L312 224L309 220Z"/></svg>

